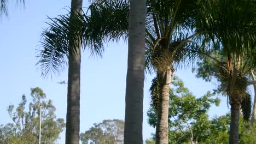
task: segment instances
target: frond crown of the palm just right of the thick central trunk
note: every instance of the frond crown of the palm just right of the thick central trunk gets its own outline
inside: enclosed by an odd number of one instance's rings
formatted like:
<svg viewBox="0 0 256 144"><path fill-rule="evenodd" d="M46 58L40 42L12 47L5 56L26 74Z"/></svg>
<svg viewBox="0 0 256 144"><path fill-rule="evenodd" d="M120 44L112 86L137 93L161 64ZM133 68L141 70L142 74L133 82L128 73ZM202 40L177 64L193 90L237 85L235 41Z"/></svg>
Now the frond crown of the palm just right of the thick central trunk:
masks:
<svg viewBox="0 0 256 144"><path fill-rule="evenodd" d="M193 40L201 35L194 29L198 8L197 1L147 1L146 68L184 64L184 47L195 46Z"/></svg>

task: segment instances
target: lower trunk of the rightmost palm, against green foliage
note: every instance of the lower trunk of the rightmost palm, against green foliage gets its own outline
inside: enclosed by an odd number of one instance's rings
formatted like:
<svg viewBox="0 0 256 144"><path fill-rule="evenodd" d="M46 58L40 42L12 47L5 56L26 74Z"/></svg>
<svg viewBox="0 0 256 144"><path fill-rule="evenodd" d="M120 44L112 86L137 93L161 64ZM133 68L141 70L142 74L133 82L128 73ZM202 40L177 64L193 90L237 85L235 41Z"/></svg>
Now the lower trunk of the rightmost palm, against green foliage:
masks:
<svg viewBox="0 0 256 144"><path fill-rule="evenodd" d="M240 105L231 104L229 144L238 144L239 142L239 115Z"/></svg>

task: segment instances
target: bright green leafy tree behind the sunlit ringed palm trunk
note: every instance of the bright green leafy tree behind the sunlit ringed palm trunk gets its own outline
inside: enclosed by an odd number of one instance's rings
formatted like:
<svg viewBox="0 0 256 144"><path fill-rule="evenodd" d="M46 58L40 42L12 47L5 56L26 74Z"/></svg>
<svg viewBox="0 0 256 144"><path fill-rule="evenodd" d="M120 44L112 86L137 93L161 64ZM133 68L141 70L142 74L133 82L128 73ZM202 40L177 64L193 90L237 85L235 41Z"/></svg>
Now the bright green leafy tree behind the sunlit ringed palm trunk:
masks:
<svg viewBox="0 0 256 144"><path fill-rule="evenodd" d="M212 104L219 105L220 100L212 98L213 94L210 92L207 92L201 98L196 98L189 92L188 88L184 87L184 83L177 76L174 76L172 85L168 116L170 143L187 142L191 136L189 132L190 127L193 131L194 139L197 141L208 139L212 123L208 120L207 111ZM153 104L151 104L147 115L149 117L148 123L155 127L157 111Z"/></svg>

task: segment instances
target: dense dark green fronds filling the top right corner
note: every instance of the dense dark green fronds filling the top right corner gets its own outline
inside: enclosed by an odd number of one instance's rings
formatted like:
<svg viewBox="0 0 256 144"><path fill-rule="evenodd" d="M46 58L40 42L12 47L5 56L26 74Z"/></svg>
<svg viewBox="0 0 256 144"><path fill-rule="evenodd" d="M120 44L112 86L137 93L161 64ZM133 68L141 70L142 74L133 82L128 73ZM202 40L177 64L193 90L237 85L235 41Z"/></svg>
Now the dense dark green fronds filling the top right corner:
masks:
<svg viewBox="0 0 256 144"><path fill-rule="evenodd" d="M197 31L208 31L222 43L224 53L244 53L255 61L255 4L253 1L200 1ZM203 18L203 19L202 19ZM255 65L255 62L254 62Z"/></svg>

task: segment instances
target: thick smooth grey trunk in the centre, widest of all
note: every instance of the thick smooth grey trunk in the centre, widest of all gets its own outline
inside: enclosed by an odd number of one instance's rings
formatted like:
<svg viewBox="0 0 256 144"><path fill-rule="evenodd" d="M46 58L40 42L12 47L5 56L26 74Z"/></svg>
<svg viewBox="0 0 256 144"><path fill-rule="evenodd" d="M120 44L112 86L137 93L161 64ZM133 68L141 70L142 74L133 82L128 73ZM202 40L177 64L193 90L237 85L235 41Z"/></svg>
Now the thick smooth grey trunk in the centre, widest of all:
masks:
<svg viewBox="0 0 256 144"><path fill-rule="evenodd" d="M131 0L124 144L142 144L146 1Z"/></svg>

